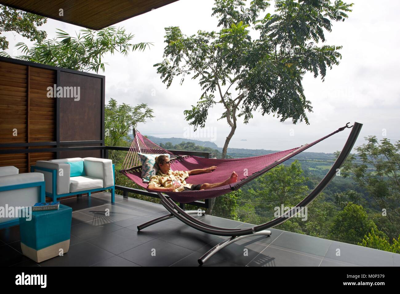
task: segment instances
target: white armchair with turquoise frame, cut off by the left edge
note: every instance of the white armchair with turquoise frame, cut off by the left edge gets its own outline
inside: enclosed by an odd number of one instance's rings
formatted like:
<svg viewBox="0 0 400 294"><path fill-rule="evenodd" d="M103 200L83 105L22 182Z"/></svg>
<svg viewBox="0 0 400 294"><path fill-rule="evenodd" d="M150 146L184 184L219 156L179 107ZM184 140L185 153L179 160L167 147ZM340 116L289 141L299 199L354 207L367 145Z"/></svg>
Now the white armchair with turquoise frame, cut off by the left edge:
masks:
<svg viewBox="0 0 400 294"><path fill-rule="evenodd" d="M19 224L19 208L44 202L44 186L41 173L18 174L14 166L0 167L0 228Z"/></svg>

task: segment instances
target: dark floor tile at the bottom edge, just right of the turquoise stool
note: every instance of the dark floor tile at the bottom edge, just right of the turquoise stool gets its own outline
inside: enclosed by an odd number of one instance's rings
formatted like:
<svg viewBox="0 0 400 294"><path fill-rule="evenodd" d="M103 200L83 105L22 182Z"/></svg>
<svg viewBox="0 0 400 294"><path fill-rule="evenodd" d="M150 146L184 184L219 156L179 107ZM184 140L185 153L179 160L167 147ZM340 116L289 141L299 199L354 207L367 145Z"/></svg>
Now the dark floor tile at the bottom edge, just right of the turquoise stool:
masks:
<svg viewBox="0 0 400 294"><path fill-rule="evenodd" d="M70 246L69 251L63 256L40 262L40 266L91 266L114 254L94 246L88 242L80 242Z"/></svg>

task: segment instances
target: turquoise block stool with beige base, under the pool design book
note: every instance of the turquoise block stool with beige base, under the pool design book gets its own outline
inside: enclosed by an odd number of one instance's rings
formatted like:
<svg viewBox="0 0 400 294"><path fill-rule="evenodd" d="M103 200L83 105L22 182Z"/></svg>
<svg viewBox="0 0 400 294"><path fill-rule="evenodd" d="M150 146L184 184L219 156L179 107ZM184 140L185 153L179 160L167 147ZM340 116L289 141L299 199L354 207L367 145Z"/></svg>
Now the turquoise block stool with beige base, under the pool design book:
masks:
<svg viewBox="0 0 400 294"><path fill-rule="evenodd" d="M72 208L62 204L58 210L32 211L32 219L21 217L22 253L36 262L59 256L60 252L67 253L71 220Z"/></svg>

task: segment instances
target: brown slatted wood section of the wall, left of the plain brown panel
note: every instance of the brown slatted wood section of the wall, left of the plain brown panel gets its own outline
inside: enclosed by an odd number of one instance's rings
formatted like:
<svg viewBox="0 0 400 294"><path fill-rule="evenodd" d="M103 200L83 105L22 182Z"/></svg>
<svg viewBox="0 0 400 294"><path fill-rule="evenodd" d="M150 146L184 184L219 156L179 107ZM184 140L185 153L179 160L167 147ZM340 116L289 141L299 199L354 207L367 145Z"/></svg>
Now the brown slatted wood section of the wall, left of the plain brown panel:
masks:
<svg viewBox="0 0 400 294"><path fill-rule="evenodd" d="M47 97L47 88L56 81L55 70L0 61L0 144L56 140L56 98ZM15 166L23 173L37 160L54 158L55 152L0 154L0 166Z"/></svg>

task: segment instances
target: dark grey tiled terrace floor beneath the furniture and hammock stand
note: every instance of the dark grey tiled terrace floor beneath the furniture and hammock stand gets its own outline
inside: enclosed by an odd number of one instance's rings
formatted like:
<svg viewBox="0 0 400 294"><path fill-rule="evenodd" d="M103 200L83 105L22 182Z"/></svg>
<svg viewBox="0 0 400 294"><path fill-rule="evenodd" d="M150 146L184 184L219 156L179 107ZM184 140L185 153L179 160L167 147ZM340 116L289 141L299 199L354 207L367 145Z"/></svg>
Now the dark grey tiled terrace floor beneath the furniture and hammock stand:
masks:
<svg viewBox="0 0 400 294"><path fill-rule="evenodd" d="M72 207L70 249L37 264L22 255L19 226L0 230L0 266L199 266L198 258L228 237L186 226L175 218L138 232L143 222L167 214L159 204L92 194L62 200ZM226 228L251 226L216 216L196 216ZM400 266L400 254L270 229L272 235L244 238L203 266Z"/></svg>

